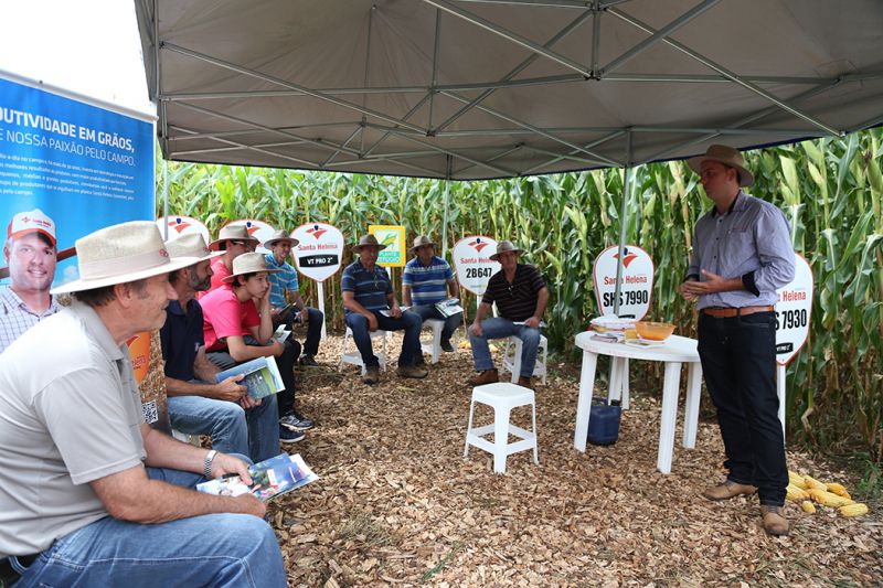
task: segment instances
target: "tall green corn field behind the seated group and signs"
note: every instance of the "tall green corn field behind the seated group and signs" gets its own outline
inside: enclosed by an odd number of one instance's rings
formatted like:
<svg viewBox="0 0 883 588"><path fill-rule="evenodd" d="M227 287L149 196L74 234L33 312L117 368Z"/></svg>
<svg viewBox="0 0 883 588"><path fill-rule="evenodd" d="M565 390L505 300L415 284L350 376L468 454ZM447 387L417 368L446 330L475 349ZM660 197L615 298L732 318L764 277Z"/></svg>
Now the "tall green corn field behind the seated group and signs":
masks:
<svg viewBox="0 0 883 588"><path fill-rule="evenodd" d="M789 435L819 448L862 445L883 458L883 130L805 141L746 153L755 172L749 193L777 204L795 249L812 267L816 292L807 345L788 367ZM157 210L163 173L158 163ZM710 207L683 162L635 170L627 202L627 242L653 258L650 316L695 335L695 310L679 286L693 226ZM551 299L545 334L562 357L576 357L574 334L597 308L595 257L618 240L623 170L482 182L445 182L347 173L170 162L169 213L203 220L212 234L228 221L259 218L291 231L311 221L338 226L352 243L370 224L401 224L407 238L443 236L449 190L447 248L462 236L509 238L543 271ZM393 274L394 284L401 279ZM302 285L309 299L313 285ZM330 327L342 324L339 280L326 282ZM466 297L470 310L475 301ZM466 304L465 304L466 306Z"/></svg>

